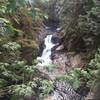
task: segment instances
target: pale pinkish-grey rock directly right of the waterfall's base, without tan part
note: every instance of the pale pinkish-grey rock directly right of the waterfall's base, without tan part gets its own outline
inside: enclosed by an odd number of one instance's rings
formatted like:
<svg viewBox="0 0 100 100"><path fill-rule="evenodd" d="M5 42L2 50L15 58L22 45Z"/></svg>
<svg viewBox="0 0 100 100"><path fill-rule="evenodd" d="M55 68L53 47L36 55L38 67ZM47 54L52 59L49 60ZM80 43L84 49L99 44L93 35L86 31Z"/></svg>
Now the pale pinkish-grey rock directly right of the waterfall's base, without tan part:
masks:
<svg viewBox="0 0 100 100"><path fill-rule="evenodd" d="M56 66L56 72L59 75L64 75L72 69L70 59L66 52L55 51L52 54L53 64Z"/></svg>

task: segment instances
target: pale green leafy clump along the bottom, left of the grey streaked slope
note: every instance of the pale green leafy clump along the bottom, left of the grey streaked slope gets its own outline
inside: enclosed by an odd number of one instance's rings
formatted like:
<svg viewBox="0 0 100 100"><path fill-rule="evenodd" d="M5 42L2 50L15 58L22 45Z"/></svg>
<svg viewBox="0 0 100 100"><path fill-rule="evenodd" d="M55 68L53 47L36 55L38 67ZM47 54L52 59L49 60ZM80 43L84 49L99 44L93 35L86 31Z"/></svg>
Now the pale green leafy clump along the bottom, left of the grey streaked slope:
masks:
<svg viewBox="0 0 100 100"><path fill-rule="evenodd" d="M34 88L37 89L36 92ZM19 97L31 97L38 93L39 98L43 99L48 96L51 91L53 91L53 82L39 78L36 78L34 81L30 81L27 84L12 85L9 87L9 93L12 94L12 100L13 98L16 100Z"/></svg>

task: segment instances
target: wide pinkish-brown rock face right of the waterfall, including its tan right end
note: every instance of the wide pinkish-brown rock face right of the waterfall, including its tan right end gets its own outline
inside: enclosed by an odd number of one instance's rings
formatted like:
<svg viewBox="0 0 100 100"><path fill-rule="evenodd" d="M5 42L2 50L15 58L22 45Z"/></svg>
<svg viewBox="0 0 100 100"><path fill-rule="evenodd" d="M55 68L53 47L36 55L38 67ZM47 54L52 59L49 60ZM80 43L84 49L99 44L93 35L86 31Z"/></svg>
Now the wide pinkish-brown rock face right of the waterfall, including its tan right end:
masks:
<svg viewBox="0 0 100 100"><path fill-rule="evenodd" d="M81 53L67 53L62 49L63 45L61 47L57 47L52 54L53 64L56 66L56 72L58 72L58 75L63 75L73 68L84 67L85 62L82 60Z"/></svg>

